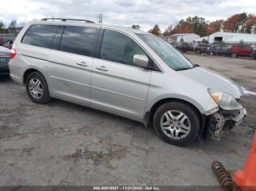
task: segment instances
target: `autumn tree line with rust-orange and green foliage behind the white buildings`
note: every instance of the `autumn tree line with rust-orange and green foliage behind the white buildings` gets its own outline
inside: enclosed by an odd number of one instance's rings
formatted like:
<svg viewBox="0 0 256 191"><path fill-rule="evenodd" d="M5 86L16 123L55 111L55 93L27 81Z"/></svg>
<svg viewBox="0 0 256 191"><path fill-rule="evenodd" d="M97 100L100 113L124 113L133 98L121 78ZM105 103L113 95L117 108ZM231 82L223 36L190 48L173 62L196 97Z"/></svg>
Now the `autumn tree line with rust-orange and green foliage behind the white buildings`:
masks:
<svg viewBox="0 0 256 191"><path fill-rule="evenodd" d="M217 31L256 34L256 15L247 14L246 12L232 15L227 20L206 21L204 17L187 17L185 20L180 20L173 27L168 26L162 33L159 26L155 25L148 32L159 36L163 34L168 36L171 34L195 33L199 36L208 36Z"/></svg>

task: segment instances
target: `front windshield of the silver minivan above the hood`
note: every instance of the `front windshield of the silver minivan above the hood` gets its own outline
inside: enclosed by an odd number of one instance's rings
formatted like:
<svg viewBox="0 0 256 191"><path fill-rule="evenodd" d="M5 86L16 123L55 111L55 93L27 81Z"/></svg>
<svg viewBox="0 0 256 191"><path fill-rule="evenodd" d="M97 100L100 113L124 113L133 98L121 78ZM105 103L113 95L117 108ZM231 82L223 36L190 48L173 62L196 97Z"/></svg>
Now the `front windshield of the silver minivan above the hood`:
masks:
<svg viewBox="0 0 256 191"><path fill-rule="evenodd" d="M156 52L171 69L184 70L193 68L192 63L190 63L184 55L158 36L151 34L137 35L143 42L146 42L146 44L148 44L148 46L151 47L151 49L154 50L154 52Z"/></svg>

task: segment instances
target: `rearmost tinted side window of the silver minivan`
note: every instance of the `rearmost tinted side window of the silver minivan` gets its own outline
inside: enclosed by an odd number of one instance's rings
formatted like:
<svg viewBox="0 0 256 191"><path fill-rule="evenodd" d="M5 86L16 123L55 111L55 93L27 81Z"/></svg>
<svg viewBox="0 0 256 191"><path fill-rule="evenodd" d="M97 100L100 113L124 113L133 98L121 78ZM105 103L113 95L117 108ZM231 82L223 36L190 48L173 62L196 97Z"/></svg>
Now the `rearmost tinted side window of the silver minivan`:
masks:
<svg viewBox="0 0 256 191"><path fill-rule="evenodd" d="M32 25L21 42L37 47L52 48L57 28L58 26L54 25Z"/></svg>

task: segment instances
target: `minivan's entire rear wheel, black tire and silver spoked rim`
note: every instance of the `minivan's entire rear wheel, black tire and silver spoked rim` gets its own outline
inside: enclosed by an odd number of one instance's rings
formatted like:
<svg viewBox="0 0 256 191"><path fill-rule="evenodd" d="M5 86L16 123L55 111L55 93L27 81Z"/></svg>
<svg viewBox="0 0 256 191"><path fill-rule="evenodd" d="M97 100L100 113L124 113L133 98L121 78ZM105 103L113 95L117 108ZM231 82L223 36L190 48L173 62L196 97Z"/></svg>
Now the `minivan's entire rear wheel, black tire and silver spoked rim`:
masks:
<svg viewBox="0 0 256 191"><path fill-rule="evenodd" d="M37 104L46 104L51 99L45 78L38 71L26 77L26 91L31 101Z"/></svg>

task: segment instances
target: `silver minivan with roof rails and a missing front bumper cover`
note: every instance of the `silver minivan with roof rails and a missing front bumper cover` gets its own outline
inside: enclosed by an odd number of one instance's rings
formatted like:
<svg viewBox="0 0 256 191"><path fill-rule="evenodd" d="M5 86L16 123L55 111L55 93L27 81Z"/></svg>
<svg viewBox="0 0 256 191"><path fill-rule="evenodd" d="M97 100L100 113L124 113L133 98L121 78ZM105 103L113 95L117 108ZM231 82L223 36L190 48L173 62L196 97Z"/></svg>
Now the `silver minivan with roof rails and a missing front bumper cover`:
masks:
<svg viewBox="0 0 256 191"><path fill-rule="evenodd" d="M184 146L241 123L241 87L191 63L143 31L89 20L28 23L11 50L10 76L37 104L59 98L153 126Z"/></svg>

